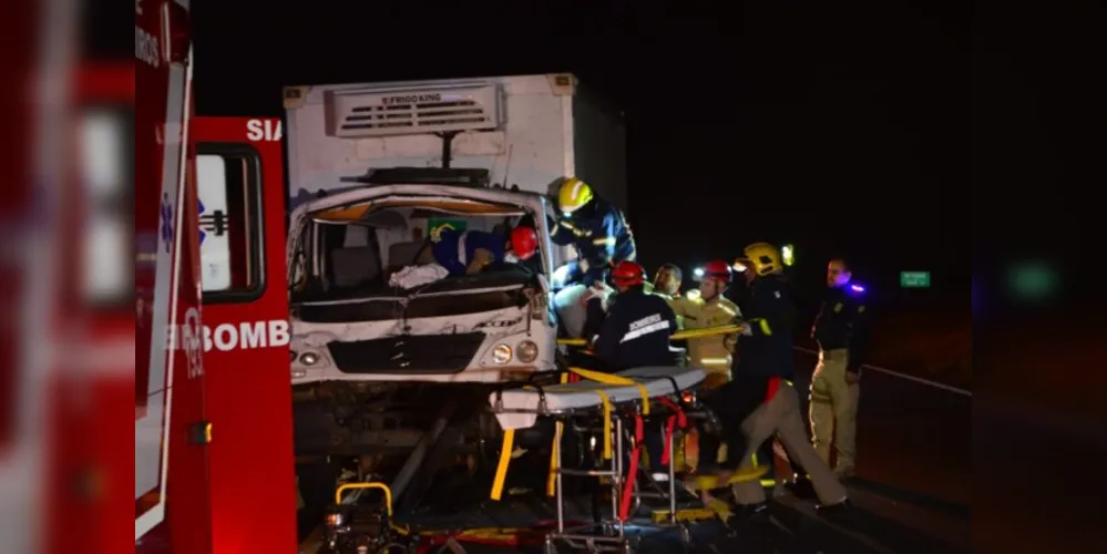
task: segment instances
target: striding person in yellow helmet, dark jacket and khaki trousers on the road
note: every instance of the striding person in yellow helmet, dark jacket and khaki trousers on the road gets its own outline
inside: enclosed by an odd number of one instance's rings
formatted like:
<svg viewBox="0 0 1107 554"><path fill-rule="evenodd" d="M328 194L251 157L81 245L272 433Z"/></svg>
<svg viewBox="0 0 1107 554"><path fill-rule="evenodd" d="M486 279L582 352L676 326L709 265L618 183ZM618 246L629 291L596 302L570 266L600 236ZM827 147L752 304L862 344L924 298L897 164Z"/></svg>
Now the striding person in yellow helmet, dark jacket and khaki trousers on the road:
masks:
<svg viewBox="0 0 1107 554"><path fill-rule="evenodd" d="M719 480L752 469L757 450L776 435L789 458L807 470L820 509L831 513L848 509L845 489L808 441L799 396L791 384L796 306L781 275L780 252L770 244L756 243L746 247L745 259L751 279L741 306L746 319L738 339L740 356L732 368L734 380L719 389L713 402L729 450L744 454L727 456ZM766 494L759 483L739 483L734 490L739 519L763 513Z"/></svg>

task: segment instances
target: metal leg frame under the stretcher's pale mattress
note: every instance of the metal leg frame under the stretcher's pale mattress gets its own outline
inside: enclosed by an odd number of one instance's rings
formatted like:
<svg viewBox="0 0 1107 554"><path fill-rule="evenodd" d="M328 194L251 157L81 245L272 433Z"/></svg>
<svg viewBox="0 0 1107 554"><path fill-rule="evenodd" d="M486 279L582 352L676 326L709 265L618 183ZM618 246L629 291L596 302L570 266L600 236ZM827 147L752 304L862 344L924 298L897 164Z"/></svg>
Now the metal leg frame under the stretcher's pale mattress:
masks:
<svg viewBox="0 0 1107 554"><path fill-rule="evenodd" d="M676 381L669 379L673 382L673 392L664 394L664 397L675 396L677 402L680 401L680 396L684 390L681 390ZM524 414L536 414L539 417L550 417L558 423L560 428L563 428L568 420L581 417L594 418L596 407L590 407L586 409L581 408L563 408L563 409L551 409L545 400L545 392L541 386L535 382L527 381L524 383L519 383L524 386L534 386L539 392L539 404L535 409L512 409L504 408L502 400L500 399L500 393L503 389L500 389L496 394L496 401L493 403L492 411L494 413L524 413ZM662 398L662 397L652 397ZM619 514L619 503L622 500L624 488L626 486L626 479L628 478L626 469L623 466L623 455L624 455L624 424L625 411L631 409L633 412L632 417L643 418L643 401L626 401L618 404L621 409L611 410L611 437L612 444L615 447L614 453L611 456L611 463L606 470L584 470L584 469L566 469L564 468L564 458L562 454L562 441L564 437L561 432L555 431L555 444L553 461L555 463L554 468L551 468L551 472L554 475L554 502L556 503L556 527L554 531L546 533L545 535L545 552L547 554L556 554L556 544L564 543L571 548L585 550L591 553L602 553L602 552L624 552L631 553L637 546L638 537L632 536L626 533L626 520L621 517ZM602 416L601 416L602 417ZM660 414L650 413L646 416L653 417L667 417ZM608 427L608 425L603 425ZM674 448L674 435L676 433L665 433L668 451L672 455ZM646 479L654 483L653 478L645 472L642 468L638 469L639 472L646 475ZM563 490L563 479L565 475L571 476L592 476L596 479L608 478L611 480L609 489L612 495L612 519L601 520L587 525L577 525L574 527L566 527L565 525L565 496ZM637 507L640 506L642 500L645 497L656 499L657 495L650 493L644 493L638 488L637 475L629 475L629 479L634 479L632 484L632 502L633 507L628 514L633 514ZM665 517L665 523L655 525L660 525L664 527L675 527L679 530L680 541L687 546L691 543L691 532L687 526L687 522L684 522L679 517L677 511L677 484L676 484L676 464L673 460L668 463L668 493L660 493L659 496L666 497L668 500L668 514Z"/></svg>

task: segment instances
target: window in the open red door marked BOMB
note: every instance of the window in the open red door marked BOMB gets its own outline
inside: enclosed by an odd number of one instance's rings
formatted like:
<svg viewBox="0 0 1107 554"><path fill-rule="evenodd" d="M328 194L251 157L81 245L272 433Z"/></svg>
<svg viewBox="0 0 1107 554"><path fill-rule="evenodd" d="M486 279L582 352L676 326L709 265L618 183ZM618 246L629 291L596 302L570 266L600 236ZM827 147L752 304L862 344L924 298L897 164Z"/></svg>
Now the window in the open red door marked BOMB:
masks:
<svg viewBox="0 0 1107 554"><path fill-rule="evenodd" d="M201 284L205 301L254 294L263 283L258 158L240 151L196 156Z"/></svg>

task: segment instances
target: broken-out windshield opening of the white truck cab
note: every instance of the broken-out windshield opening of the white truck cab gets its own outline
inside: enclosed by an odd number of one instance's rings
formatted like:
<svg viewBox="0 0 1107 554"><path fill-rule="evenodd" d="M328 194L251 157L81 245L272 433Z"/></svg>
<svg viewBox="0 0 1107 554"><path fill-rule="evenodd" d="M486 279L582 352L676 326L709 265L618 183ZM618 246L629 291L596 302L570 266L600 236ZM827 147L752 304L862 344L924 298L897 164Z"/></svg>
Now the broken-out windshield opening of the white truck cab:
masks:
<svg viewBox="0 0 1107 554"><path fill-rule="evenodd" d="M525 261L504 252L509 229L534 225L523 208L508 214L451 213L421 206L372 211L366 206L360 213L358 208L316 214L305 225L293 258L294 304L519 288L535 281L543 271L541 244L540 253ZM448 276L441 268L427 269L441 265L435 256L442 257L443 248L435 245L442 237L453 234L457 244L457 234L464 232L482 233L481 239L496 252L496 259L473 275ZM444 252L449 255L450 248ZM422 277L414 281L397 278L404 273ZM492 304L503 302L514 304L515 299Z"/></svg>

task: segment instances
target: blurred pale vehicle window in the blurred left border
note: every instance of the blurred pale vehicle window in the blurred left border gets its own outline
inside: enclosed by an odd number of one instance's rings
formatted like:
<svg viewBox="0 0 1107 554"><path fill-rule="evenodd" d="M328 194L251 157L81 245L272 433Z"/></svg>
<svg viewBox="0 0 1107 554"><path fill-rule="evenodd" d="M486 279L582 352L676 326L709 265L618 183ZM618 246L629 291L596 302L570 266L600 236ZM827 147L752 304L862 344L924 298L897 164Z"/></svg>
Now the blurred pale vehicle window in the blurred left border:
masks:
<svg viewBox="0 0 1107 554"><path fill-rule="evenodd" d="M83 297L93 307L127 306L134 294L134 163L127 146L133 120L120 110L94 107L80 123L80 177L89 206L81 233Z"/></svg>

